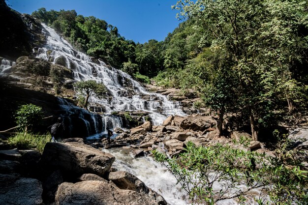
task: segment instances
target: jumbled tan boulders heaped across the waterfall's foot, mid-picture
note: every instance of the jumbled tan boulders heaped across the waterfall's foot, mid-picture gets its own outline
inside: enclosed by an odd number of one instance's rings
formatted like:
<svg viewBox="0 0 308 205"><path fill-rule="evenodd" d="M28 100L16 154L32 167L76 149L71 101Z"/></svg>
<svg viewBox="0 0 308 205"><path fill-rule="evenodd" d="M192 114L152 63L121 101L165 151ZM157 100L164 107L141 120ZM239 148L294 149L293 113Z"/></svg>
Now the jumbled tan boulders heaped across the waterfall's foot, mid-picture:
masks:
<svg viewBox="0 0 308 205"><path fill-rule="evenodd" d="M170 156L182 152L190 141L196 146L208 146L213 143L233 144L232 139L239 141L241 136L251 139L247 133L234 132L231 138L215 138L216 120L212 116L190 115L187 117L169 116L159 126L147 121L144 124L120 133L112 144L102 140L105 148L115 146L130 146L135 150L133 156L140 156L144 152L156 149ZM233 144L233 146L238 146ZM260 142L250 141L249 145L240 147L245 150L261 148ZM143 151L143 152L142 152ZM141 154L140 154L141 153Z"/></svg>

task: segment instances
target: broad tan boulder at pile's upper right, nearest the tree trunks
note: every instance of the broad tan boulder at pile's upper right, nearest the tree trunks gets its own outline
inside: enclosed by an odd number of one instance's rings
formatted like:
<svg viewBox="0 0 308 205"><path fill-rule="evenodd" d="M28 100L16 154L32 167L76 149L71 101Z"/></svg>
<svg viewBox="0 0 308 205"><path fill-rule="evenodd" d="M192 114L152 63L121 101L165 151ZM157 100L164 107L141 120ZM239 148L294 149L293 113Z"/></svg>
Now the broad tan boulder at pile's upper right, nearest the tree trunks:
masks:
<svg viewBox="0 0 308 205"><path fill-rule="evenodd" d="M216 125L216 120L212 116L189 116L182 120L180 127L193 131L203 131Z"/></svg>

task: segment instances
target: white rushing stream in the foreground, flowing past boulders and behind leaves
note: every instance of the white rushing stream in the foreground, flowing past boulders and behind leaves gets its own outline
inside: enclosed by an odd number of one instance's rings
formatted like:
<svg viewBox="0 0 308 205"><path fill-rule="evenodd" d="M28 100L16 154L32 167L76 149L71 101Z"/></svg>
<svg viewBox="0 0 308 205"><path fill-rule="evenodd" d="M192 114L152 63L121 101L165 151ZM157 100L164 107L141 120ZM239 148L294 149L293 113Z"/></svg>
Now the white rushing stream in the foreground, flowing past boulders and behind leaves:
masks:
<svg viewBox="0 0 308 205"><path fill-rule="evenodd" d="M160 194L169 205L190 205L187 193L184 189L181 189L180 184L176 184L176 178L162 164L154 161L152 157L134 159L129 153L130 150L123 148L102 149L102 151L111 153L116 157L113 167L137 176L149 188ZM213 185L214 193L219 193L222 185L215 182ZM239 185L238 188L246 190L245 185ZM233 191L236 192L236 189ZM249 191L246 195L245 205L257 205L254 198L258 198L260 194L261 188ZM216 202L216 205L238 205L238 200L237 198L221 200Z"/></svg>

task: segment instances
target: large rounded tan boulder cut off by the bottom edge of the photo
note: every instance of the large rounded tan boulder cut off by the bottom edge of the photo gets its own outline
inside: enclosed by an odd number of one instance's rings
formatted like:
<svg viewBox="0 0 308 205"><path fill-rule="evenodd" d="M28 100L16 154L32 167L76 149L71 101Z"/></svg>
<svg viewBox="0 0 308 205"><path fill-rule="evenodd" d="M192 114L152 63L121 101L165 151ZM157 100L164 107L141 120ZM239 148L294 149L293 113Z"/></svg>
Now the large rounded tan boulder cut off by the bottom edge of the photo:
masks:
<svg viewBox="0 0 308 205"><path fill-rule="evenodd" d="M57 190L55 205L163 205L154 196L118 189L105 181L64 182Z"/></svg>

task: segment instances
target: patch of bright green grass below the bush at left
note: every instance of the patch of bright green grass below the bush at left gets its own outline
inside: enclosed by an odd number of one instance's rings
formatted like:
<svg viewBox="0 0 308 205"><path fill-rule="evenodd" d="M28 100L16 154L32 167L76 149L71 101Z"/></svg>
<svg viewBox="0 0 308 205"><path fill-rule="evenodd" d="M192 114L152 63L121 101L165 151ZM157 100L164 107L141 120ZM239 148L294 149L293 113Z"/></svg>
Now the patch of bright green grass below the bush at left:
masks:
<svg viewBox="0 0 308 205"><path fill-rule="evenodd" d="M34 135L32 133L17 133L15 136L8 138L8 144L17 147L18 149L37 149L43 152L46 143L51 139L50 134Z"/></svg>

